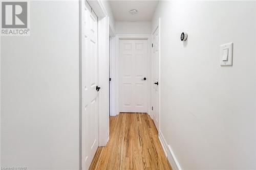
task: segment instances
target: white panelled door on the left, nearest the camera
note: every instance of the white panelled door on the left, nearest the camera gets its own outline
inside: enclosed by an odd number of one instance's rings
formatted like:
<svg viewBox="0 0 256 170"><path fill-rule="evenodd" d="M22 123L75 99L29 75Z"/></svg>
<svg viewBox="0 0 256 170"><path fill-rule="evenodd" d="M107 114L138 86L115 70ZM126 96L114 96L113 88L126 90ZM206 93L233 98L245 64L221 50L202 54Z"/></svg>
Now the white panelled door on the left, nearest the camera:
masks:
<svg viewBox="0 0 256 170"><path fill-rule="evenodd" d="M98 23L87 1L81 3L82 169L98 148Z"/></svg>

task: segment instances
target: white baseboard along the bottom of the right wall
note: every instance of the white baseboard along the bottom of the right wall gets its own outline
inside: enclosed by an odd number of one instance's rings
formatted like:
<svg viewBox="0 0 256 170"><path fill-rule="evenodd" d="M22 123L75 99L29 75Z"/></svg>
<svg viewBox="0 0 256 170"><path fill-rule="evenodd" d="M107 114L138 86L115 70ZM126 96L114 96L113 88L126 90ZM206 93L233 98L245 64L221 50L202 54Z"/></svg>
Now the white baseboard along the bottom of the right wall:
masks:
<svg viewBox="0 0 256 170"><path fill-rule="evenodd" d="M167 144L161 130L159 130L158 138L163 147L164 154L170 163L170 166L172 166L173 170L182 170L178 160L176 159L176 157L174 155L172 148L170 148L170 145Z"/></svg>

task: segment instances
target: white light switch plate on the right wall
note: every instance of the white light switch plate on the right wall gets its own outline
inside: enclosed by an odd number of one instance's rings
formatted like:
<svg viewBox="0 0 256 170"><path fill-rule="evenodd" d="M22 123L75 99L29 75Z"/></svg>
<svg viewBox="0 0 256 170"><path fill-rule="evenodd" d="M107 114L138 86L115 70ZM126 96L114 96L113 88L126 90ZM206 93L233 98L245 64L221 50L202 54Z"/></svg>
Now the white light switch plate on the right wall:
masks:
<svg viewBox="0 0 256 170"><path fill-rule="evenodd" d="M228 49L227 60L223 60L224 49ZM220 61L221 66L233 65L233 42L220 45Z"/></svg>

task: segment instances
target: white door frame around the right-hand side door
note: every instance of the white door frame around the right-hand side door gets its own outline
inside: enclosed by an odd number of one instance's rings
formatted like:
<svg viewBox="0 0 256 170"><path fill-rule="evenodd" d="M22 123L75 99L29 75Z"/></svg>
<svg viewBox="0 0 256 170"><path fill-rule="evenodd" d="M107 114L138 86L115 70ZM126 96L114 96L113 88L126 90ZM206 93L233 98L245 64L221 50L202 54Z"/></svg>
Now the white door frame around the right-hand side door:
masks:
<svg viewBox="0 0 256 170"><path fill-rule="evenodd" d="M153 37L153 34L154 34L154 32L158 29L158 35L159 35L159 37L158 37L158 50L159 50L159 53L158 53L158 60L159 60L159 67L158 67L158 74L159 74L159 87L158 87L158 93L159 93L159 104L158 104L158 127L157 127L157 129L158 129L158 131L160 132L161 130L160 130L160 124L161 124L161 29L160 29L160 27L161 27L161 18L158 18L158 23L157 23L157 25L153 28L153 30L152 30L152 33L151 33L151 36ZM153 39L152 39L153 40ZM153 41L151 41L151 43L153 43ZM151 55L153 55L153 50L152 50L152 48L151 48ZM151 71L151 75L152 75L152 71ZM152 79L151 79L151 89L153 89L153 81L152 81ZM153 98L153 95L152 95L152 93L151 93L151 99ZM151 102L152 102L153 100L151 100ZM151 105L153 105L153 103L151 103ZM152 115L152 114L151 114ZM151 117L152 118L152 117ZM158 133L159 134L159 133Z"/></svg>

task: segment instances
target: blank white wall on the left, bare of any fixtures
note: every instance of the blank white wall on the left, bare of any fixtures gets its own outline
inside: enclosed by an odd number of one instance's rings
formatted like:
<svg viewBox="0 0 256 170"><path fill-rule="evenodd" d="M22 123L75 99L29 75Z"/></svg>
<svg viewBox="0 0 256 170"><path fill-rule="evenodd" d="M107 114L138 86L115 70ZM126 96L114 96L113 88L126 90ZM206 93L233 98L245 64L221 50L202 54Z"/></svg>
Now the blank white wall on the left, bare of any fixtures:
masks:
<svg viewBox="0 0 256 170"><path fill-rule="evenodd" d="M1 50L1 166L79 169L78 1L31 1Z"/></svg>

